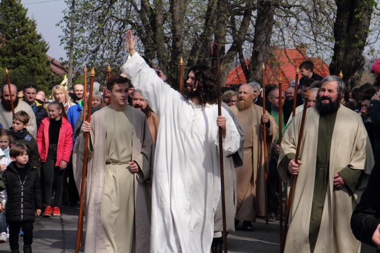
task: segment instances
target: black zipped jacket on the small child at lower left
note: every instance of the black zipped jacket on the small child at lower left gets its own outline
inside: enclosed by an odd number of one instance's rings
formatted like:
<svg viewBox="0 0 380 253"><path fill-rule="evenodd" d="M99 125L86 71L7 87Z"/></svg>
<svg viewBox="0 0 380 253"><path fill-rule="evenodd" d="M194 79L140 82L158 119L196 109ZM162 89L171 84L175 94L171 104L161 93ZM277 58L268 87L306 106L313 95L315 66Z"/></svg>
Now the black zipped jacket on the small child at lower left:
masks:
<svg viewBox="0 0 380 253"><path fill-rule="evenodd" d="M15 162L11 162L3 172L3 181L8 195L7 222L34 222L35 210L42 208L40 177L37 170L32 169L28 162L24 167L27 171L25 180L21 182L15 166Z"/></svg>

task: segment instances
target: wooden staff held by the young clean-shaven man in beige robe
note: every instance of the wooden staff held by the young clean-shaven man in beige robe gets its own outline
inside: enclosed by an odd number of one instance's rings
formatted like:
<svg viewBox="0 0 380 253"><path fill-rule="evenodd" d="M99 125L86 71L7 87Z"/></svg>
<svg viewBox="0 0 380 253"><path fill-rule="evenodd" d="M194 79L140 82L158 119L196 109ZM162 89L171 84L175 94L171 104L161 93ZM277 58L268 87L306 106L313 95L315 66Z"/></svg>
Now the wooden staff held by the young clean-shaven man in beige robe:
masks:
<svg viewBox="0 0 380 253"><path fill-rule="evenodd" d="M94 67L90 72L91 80L90 80L90 94L89 101L92 101L92 91L94 89L94 78L95 78L95 69ZM87 122L91 123L91 106L88 106L87 110ZM85 114L85 112L83 112ZM83 201L85 198L85 183L86 183L86 173L87 173L87 153L88 153L88 142L90 138L90 133L85 133L85 150L83 156L83 169L82 169L82 182L81 182L81 198L79 202L79 216L78 216L78 231L77 231L77 244L75 245L75 253L79 253L79 247L81 243L81 233L83 230Z"/></svg>

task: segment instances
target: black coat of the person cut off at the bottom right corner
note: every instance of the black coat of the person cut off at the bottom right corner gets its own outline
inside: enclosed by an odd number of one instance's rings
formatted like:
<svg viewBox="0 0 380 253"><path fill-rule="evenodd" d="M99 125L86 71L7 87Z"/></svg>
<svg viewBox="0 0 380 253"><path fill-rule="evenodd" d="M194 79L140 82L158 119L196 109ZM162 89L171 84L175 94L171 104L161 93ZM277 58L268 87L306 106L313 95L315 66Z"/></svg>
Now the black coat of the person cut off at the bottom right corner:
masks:
<svg viewBox="0 0 380 253"><path fill-rule="evenodd" d="M356 239L373 247L372 235L380 224L380 157L376 159L359 204L351 217L351 229Z"/></svg>

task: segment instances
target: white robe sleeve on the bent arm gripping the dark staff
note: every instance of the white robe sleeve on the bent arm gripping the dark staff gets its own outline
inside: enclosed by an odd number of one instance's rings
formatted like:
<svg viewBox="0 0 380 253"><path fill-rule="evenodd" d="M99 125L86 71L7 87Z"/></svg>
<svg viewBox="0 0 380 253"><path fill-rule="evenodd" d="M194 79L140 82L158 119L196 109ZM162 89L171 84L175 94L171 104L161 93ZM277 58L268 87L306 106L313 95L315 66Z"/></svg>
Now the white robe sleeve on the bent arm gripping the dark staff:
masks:
<svg viewBox="0 0 380 253"><path fill-rule="evenodd" d="M225 117L225 138L223 139L224 156L234 154L240 147L240 134L230 114L222 107L221 114ZM215 119L216 120L216 119ZM219 145L219 138L215 141Z"/></svg>

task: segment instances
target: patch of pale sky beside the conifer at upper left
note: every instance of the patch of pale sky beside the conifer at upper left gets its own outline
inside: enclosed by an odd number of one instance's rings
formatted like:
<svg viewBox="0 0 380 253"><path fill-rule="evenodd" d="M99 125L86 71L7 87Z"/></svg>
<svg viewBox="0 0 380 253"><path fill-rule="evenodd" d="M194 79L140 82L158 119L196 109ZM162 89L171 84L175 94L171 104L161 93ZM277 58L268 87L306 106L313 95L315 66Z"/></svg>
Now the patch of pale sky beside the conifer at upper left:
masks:
<svg viewBox="0 0 380 253"><path fill-rule="evenodd" d="M58 38L63 32L56 26L62 20L62 12L67 7L64 0L21 0L21 3L28 9L27 16L36 20L37 32L49 43L48 55L57 60L61 57L67 60L66 51L63 45L59 45Z"/></svg>

